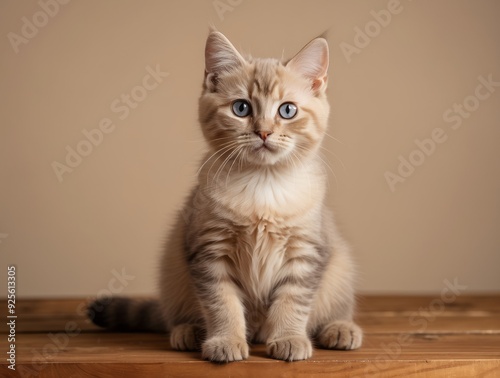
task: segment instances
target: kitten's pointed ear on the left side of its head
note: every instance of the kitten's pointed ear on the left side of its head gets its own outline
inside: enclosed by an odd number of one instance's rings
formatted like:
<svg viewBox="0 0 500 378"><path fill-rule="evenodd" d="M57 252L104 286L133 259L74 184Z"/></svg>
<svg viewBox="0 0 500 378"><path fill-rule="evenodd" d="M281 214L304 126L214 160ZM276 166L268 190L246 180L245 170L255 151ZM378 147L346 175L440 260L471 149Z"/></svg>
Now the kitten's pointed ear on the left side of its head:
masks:
<svg viewBox="0 0 500 378"><path fill-rule="evenodd" d="M217 75L229 71L245 62L224 34L212 31L205 46L205 71Z"/></svg>

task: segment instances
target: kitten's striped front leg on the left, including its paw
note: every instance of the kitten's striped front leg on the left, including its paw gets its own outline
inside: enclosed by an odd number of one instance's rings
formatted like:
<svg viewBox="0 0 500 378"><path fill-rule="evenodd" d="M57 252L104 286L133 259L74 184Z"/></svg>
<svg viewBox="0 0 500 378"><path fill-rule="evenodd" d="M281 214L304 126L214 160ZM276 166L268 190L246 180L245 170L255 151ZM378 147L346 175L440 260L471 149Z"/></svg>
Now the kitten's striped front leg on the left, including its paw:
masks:
<svg viewBox="0 0 500 378"><path fill-rule="evenodd" d="M192 261L191 272L207 332L202 357L214 362L248 358L244 309L224 259L198 254Z"/></svg>

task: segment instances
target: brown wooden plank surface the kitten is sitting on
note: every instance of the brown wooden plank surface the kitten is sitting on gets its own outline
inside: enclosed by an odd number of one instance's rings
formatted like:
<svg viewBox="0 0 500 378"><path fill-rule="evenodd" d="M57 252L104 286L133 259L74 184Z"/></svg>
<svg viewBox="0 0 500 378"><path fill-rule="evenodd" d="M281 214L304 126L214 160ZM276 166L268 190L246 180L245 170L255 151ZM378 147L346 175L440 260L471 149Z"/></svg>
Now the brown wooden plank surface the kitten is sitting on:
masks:
<svg viewBox="0 0 500 378"><path fill-rule="evenodd" d="M84 316L85 299L18 300L16 305L17 370L11 373L2 357L1 377L500 378L500 295L453 301L439 295L361 297L361 349L316 349L307 361L286 363L254 345L247 361L227 365L172 351L166 335L98 329ZM5 322L1 333L5 356Z"/></svg>

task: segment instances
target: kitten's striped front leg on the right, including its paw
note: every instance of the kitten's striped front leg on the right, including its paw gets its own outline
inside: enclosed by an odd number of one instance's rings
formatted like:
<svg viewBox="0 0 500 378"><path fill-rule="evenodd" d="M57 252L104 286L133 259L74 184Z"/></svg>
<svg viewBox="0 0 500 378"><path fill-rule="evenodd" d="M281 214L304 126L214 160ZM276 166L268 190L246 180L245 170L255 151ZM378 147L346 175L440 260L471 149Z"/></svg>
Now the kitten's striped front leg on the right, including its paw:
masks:
<svg viewBox="0 0 500 378"><path fill-rule="evenodd" d="M312 246L287 254L293 257L280 272L266 320L267 353L279 360L305 360L313 351L307 323L319 281L320 256Z"/></svg>

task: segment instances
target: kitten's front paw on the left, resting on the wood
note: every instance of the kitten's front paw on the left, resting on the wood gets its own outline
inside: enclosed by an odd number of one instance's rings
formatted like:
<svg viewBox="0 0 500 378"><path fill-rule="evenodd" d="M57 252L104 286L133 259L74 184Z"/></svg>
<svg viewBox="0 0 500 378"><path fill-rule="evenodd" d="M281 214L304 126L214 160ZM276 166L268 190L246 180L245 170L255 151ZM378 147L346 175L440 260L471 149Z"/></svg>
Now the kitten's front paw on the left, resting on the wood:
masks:
<svg viewBox="0 0 500 378"><path fill-rule="evenodd" d="M211 337L203 343L202 357L212 362L241 361L248 358L248 344L236 337Z"/></svg>

